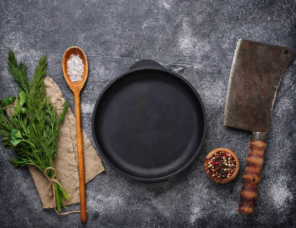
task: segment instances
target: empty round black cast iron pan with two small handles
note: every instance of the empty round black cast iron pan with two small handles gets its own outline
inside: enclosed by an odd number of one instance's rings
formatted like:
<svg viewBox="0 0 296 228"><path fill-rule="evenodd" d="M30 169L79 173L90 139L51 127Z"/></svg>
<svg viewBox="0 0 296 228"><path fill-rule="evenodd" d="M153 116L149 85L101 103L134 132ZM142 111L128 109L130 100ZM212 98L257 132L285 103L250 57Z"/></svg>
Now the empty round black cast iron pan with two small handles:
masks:
<svg viewBox="0 0 296 228"><path fill-rule="evenodd" d="M193 86L152 60L136 62L99 96L92 131L105 161L147 188L183 171L200 151L206 115Z"/></svg>

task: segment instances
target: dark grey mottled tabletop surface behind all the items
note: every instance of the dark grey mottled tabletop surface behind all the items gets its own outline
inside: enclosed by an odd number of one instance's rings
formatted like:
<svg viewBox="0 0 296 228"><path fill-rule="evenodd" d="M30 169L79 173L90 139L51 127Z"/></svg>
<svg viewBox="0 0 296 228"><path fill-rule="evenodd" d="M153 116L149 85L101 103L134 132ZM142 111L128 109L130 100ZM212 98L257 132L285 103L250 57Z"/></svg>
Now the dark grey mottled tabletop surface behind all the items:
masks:
<svg viewBox="0 0 296 228"><path fill-rule="evenodd" d="M81 94L82 126L92 140L91 116L102 89L137 60L149 58L184 76L200 94L208 118L207 136L196 160L164 186L147 190L104 163L106 172L86 186L85 227L295 227L296 61L282 78L272 114L256 214L237 213L251 134L223 127L228 76L239 38L296 49L294 0L1 0L0 97L15 95L6 70L11 47L28 65L42 54L48 76L74 110L62 74L62 56L80 46L89 61ZM179 70L178 70L179 69ZM240 158L236 179L219 185L204 172L206 154L226 147ZM42 210L27 168L7 162L0 147L0 227L82 227L79 214ZM68 207L69 210L79 205Z"/></svg>

